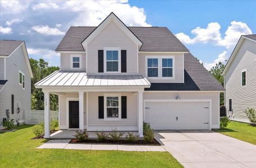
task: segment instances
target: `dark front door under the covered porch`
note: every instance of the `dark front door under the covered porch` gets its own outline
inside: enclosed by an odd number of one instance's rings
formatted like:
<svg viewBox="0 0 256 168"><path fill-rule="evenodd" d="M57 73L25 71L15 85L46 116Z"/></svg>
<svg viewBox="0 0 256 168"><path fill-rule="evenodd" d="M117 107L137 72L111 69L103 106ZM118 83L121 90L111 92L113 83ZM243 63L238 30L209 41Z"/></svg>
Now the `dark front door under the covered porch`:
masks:
<svg viewBox="0 0 256 168"><path fill-rule="evenodd" d="M79 101L69 101L69 128L79 128Z"/></svg>

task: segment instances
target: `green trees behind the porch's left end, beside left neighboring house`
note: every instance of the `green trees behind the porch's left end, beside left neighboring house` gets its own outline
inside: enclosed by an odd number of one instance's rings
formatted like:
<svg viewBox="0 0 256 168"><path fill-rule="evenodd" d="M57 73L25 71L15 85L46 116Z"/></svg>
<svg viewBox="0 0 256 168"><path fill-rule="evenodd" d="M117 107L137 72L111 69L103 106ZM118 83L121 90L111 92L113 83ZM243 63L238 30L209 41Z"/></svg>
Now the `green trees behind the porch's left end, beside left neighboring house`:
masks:
<svg viewBox="0 0 256 168"><path fill-rule="evenodd" d="M48 67L48 62L40 58L39 61L30 58L31 69L34 78L31 79L31 109L33 110L43 110L44 109L44 94L42 89L35 88L35 83L47 77L54 71L58 71L59 67ZM50 108L55 111L58 109L58 96L50 95Z"/></svg>

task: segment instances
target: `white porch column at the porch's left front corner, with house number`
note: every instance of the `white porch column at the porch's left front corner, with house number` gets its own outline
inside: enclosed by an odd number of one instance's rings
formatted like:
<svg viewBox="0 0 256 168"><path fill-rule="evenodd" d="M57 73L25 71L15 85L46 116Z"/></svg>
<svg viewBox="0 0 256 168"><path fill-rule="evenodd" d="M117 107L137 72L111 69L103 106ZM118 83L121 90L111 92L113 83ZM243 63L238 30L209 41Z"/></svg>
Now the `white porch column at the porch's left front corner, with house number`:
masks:
<svg viewBox="0 0 256 168"><path fill-rule="evenodd" d="M44 92L44 138L50 138L50 94Z"/></svg>

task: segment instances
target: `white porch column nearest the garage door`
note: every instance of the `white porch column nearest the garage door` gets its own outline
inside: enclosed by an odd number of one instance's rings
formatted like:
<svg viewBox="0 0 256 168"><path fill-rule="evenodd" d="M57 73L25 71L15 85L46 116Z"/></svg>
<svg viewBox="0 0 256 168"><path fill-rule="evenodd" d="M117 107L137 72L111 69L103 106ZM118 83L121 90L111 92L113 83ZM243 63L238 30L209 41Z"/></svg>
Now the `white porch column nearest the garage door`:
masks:
<svg viewBox="0 0 256 168"><path fill-rule="evenodd" d="M143 137L143 91L138 91L138 129L139 136Z"/></svg>

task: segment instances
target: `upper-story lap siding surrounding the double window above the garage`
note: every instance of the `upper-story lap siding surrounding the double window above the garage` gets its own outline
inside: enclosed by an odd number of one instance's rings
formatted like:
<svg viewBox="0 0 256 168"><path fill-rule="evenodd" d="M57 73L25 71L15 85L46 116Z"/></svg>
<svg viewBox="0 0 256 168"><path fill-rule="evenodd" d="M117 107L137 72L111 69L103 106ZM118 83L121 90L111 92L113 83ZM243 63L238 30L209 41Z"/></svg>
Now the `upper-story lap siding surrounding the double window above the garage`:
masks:
<svg viewBox="0 0 256 168"><path fill-rule="evenodd" d="M162 56L162 55L167 55L167 56L174 56L175 57L175 79L173 80L152 80L150 79L149 82L152 83L183 83L183 73L184 73L184 57L183 54L139 54L139 73L142 74L144 77L146 77L146 69L145 69L145 57L146 56ZM161 62L159 62L161 63ZM159 64L158 63L158 64ZM158 71L162 71L159 69Z"/></svg>

